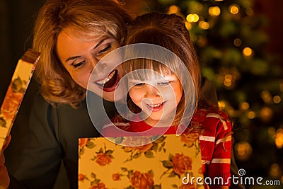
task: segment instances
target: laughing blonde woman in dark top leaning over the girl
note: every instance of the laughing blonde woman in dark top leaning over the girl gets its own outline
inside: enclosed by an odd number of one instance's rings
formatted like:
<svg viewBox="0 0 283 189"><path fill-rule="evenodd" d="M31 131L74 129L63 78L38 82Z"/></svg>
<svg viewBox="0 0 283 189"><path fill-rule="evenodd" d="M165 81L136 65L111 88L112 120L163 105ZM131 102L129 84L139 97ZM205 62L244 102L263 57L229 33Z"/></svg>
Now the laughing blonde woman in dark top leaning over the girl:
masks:
<svg viewBox="0 0 283 189"><path fill-rule="evenodd" d="M52 188L61 161L70 188L77 188L78 137L99 136L86 109L88 78L102 57L120 47L132 18L112 0L47 0L40 9L33 49L41 52L36 69L41 96L35 99L29 141L13 174L26 188ZM105 74L97 85L104 84L103 98L113 101L122 73L117 67ZM111 103L107 106L114 110Z"/></svg>

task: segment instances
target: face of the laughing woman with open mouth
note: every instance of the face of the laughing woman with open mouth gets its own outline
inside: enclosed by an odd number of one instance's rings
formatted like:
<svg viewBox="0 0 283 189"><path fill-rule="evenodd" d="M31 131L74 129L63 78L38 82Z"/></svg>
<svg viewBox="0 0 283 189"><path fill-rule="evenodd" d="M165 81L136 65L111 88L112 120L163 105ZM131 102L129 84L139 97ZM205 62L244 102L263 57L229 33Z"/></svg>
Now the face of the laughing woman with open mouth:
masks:
<svg viewBox="0 0 283 189"><path fill-rule="evenodd" d="M99 60L118 47L120 47L120 44L115 38L105 36L86 42L71 38L63 30L57 38L57 55L60 61L76 84L83 88L87 88L91 72ZM103 69L100 72L109 70L108 66L107 64L103 65ZM119 66L111 73L108 71L96 76L96 81L93 83L103 91L105 100L114 101L115 87L119 82L121 74L122 67ZM100 94L98 93L98 95Z"/></svg>

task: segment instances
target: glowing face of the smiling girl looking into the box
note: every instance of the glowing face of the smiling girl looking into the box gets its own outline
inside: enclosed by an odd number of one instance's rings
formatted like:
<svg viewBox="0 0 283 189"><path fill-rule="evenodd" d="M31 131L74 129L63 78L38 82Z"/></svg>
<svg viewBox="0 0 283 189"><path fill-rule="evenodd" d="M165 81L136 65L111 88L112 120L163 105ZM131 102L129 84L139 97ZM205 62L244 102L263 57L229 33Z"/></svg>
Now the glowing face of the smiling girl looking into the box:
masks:
<svg viewBox="0 0 283 189"><path fill-rule="evenodd" d="M175 74L159 79L153 76L146 81L129 79L128 86L129 97L149 116L144 121L151 126L156 125L159 120L172 118L171 113L174 113L173 110L183 95L182 84Z"/></svg>

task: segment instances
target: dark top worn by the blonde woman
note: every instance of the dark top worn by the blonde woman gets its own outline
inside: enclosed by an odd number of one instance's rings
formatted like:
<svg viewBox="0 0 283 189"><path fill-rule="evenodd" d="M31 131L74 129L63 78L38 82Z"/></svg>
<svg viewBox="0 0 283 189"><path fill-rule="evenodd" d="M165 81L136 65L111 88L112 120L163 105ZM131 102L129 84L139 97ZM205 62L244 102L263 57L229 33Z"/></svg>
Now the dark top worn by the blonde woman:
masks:
<svg viewBox="0 0 283 189"><path fill-rule="evenodd" d="M101 101L96 95L93 98ZM105 107L114 110L113 103L105 102ZM103 125L102 116L96 116ZM63 160L70 188L78 188L78 138L100 136L88 116L86 101L76 109L64 104L56 108L36 96L29 123L28 144L13 176L26 188L52 188Z"/></svg>

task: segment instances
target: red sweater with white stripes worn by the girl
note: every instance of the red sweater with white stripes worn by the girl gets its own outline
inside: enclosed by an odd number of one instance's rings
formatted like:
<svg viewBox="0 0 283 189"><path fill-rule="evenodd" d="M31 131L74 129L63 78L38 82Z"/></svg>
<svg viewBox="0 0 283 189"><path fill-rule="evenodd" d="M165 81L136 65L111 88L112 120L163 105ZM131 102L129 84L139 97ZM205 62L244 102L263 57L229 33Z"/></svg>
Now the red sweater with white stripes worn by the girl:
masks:
<svg viewBox="0 0 283 189"><path fill-rule="evenodd" d="M231 182L228 178L231 176L231 122L228 116L216 108L197 110L190 122L190 127L194 125L202 126L204 129L204 133L200 136L200 147L205 183L212 183L209 188L219 188L219 185L213 185L213 183L215 177L221 177L224 181L223 185L230 185ZM125 136L125 132L121 132L121 130L127 132L150 130L146 133L148 135L176 133L175 126L151 127L141 120L140 122L115 122L115 125L105 125L102 134L104 137ZM216 179L216 184L218 181Z"/></svg>

